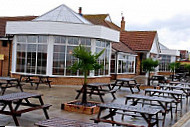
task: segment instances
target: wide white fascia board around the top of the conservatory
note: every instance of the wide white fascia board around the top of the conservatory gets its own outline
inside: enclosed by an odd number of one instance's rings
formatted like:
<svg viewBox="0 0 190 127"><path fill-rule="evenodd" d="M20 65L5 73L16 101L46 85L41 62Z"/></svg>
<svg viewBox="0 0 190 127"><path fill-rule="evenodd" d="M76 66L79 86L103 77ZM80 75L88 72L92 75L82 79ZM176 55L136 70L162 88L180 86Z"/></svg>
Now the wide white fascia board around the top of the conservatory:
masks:
<svg viewBox="0 0 190 127"><path fill-rule="evenodd" d="M120 33L118 31L100 25L44 21L9 21L6 24L6 34L81 36L89 38L100 38L113 42L119 42L120 36Z"/></svg>

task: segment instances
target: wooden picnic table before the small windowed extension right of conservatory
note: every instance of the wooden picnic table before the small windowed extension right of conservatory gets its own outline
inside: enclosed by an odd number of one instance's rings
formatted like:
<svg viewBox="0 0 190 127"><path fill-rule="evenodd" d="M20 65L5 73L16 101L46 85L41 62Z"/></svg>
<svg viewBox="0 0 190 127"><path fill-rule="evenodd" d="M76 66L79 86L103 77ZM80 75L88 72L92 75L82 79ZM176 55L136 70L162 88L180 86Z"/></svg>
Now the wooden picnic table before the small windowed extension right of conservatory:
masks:
<svg viewBox="0 0 190 127"><path fill-rule="evenodd" d="M119 83L120 82L120 83ZM132 83L131 83L132 82ZM140 92L140 88L139 88L139 84L137 84L136 80L135 79L130 79L130 78L119 78L119 79L116 79L115 83L112 84L113 87L112 89L114 89L115 86L119 86L118 89L120 89L121 87L129 87L130 90L131 90L131 93L134 94L133 92L133 88L137 88L138 91Z"/></svg>

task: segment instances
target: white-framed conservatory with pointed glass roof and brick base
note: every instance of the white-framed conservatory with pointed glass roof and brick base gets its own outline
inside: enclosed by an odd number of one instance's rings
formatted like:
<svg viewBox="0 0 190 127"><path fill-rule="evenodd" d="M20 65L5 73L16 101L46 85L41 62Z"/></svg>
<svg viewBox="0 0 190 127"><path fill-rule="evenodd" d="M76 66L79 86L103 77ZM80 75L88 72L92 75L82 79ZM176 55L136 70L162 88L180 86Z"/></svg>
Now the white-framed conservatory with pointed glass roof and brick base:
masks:
<svg viewBox="0 0 190 127"><path fill-rule="evenodd" d="M82 84L83 74L69 66L77 61L73 49L83 45L92 53L105 49L98 60L104 68L91 71L90 82L110 80L111 42L119 42L119 32L93 25L65 5L32 21L7 22L6 34L14 35L13 76L40 74L54 77L55 84Z"/></svg>

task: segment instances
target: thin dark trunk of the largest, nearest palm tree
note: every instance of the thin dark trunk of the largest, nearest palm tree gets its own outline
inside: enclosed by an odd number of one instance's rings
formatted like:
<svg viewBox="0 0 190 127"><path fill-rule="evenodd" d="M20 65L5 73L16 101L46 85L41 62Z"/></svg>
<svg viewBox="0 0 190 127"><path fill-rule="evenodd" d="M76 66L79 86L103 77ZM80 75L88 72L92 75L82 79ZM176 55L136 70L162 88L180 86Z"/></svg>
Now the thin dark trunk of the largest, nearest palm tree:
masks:
<svg viewBox="0 0 190 127"><path fill-rule="evenodd" d="M83 84L83 95L82 95L82 103L87 103L87 71L84 72L84 84Z"/></svg>

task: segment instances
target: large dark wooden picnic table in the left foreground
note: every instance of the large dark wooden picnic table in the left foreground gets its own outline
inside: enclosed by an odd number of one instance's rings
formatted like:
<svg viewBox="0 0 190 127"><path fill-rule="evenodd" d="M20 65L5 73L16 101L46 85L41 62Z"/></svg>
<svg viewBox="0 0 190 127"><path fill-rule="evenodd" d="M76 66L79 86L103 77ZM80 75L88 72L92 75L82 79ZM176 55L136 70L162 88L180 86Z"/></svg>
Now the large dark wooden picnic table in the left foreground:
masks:
<svg viewBox="0 0 190 127"><path fill-rule="evenodd" d="M46 119L49 119L47 109L51 105L44 104L41 96L42 94L34 94L26 92L11 93L0 96L0 103L3 104L3 107L0 109L0 114L11 115L14 119L16 126L19 126L17 116L21 116L22 113L27 113L34 110L43 109ZM40 104L32 103L30 99L33 98L38 99ZM21 105L24 106L25 108L24 109L21 108L20 110L18 110ZM8 107L7 110L6 107Z"/></svg>

